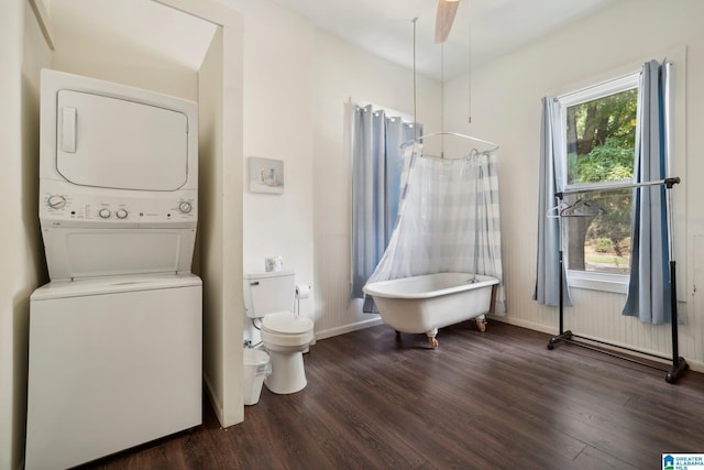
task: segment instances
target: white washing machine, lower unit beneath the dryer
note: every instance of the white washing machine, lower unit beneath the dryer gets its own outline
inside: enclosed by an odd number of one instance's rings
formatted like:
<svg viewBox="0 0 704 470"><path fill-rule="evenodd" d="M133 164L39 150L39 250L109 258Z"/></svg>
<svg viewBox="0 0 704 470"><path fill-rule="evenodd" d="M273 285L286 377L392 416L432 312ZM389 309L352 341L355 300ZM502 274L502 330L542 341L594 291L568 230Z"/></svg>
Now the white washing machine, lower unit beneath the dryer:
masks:
<svg viewBox="0 0 704 470"><path fill-rule="evenodd" d="M32 294L25 468L65 469L201 423L193 274L54 281Z"/></svg>

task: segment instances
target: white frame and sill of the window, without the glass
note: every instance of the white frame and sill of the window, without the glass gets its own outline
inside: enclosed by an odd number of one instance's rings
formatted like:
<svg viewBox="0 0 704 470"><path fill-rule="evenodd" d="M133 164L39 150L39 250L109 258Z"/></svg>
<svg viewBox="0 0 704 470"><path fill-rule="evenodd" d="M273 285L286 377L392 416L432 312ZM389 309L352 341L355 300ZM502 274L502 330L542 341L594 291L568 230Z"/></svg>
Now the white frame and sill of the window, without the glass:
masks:
<svg viewBox="0 0 704 470"><path fill-rule="evenodd" d="M566 139L566 113L568 108L574 105L580 105L586 101L592 101L600 98L605 98L610 95L615 95L622 91L638 89L640 92L640 70L623 75L617 78L608 79L600 84L582 88L576 91L571 91L557 97L560 113L560 135L562 136L562 147L560 149L560 171L563 173L563 182L565 182L564 189L579 189L588 188L592 184L574 185L566 184L568 175L568 139ZM636 109L636 119L638 117L638 109ZM636 124L638 125L638 124ZM623 185L624 181L613 182L615 186ZM608 185L608 182L598 183L600 186ZM570 287L585 288L592 291L612 292L618 294L628 293L629 274L612 274L600 273L593 271L576 271L565 270L566 281Z"/></svg>

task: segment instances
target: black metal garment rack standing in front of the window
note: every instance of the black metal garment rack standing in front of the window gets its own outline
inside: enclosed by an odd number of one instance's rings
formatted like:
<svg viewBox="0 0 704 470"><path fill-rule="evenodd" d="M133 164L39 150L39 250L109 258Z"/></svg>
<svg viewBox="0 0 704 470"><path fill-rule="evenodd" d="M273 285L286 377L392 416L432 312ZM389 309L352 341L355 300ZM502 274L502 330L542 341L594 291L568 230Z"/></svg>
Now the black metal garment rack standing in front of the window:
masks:
<svg viewBox="0 0 704 470"><path fill-rule="evenodd" d="M628 183L628 184L623 184L623 185L609 185L609 186L591 186L591 187L586 187L586 188L580 188L579 190L564 190L561 193L556 193L556 197L560 200L560 204L558 207L561 207L564 203L564 196L566 194L578 194L578 193L588 193L588 192L600 192L600 190L605 190L605 189L626 189L626 188L637 188L637 187L642 187L642 186L659 186L659 185L664 185L667 188L667 199L668 199L668 211L667 211L667 217L668 217L668 237L669 237L669 251L670 251L670 306L672 309L672 318L671 318L671 325L672 325L672 358L668 358L664 356L659 356L659 354L652 354L652 353L648 353L648 352L642 352L642 351L638 351L636 349L630 349L624 346L619 346L619 345L613 345L606 341L601 341L601 340L595 340L593 338L587 338L587 337L583 337L583 336L579 336L573 334L570 330L564 330L564 260L563 260L563 247L562 247L562 214L561 211L558 212L558 217L560 219L560 334L558 336L554 336L552 338L550 338L550 341L548 342L548 349L552 350L556 345L560 343L560 342L569 342L571 345L575 345L579 346L581 348L585 348L585 349L590 349L592 351L596 351L596 352L601 352L614 358L618 358L618 359L623 359L629 362L635 362L637 364L640 365L645 365L648 368L652 368L652 369L658 369L658 370L662 370L656 365L652 365L650 363L647 362L642 362L639 361L632 357L627 357L627 356L622 356L618 354L616 352L613 352L608 349L604 349L604 348L600 348L596 346L592 346L585 342L580 342L580 341L575 341L573 338L581 338L587 341L592 341L595 343L600 343L600 345L604 345L604 346L608 346L610 348L617 348L620 350L625 350L625 351L630 351L630 352L636 352L638 354L645 354L645 356L650 356L652 358L659 358L659 359L667 359L667 360L672 360L672 368L670 368L670 370L667 371L666 378L664 380L668 383L675 383L678 381L678 379L680 378L680 375L682 375L682 373L688 370L690 367L686 363L686 361L684 360L684 358L680 357L679 353L679 342L678 342L678 294L676 294L676 270L675 270L675 261L674 261L674 249L673 249L673 240L672 240L672 219L671 219L671 214L672 214L672 198L670 195L670 190L672 189L672 186L674 186L675 184L680 183L680 178L679 177L672 177L672 178L664 178L664 179L660 179L657 182L647 182L647 183Z"/></svg>

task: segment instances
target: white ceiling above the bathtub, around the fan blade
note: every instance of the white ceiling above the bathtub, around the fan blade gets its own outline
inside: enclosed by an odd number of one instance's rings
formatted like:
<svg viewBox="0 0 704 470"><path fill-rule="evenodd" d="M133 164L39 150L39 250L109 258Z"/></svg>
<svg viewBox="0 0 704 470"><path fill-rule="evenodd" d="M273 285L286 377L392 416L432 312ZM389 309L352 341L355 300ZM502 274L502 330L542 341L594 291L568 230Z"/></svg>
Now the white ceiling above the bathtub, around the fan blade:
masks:
<svg viewBox="0 0 704 470"><path fill-rule="evenodd" d="M416 68L444 79L466 73L470 57L472 66L481 65L615 1L461 0L441 54L433 42L437 0L274 0L318 28L408 68L417 18Z"/></svg>

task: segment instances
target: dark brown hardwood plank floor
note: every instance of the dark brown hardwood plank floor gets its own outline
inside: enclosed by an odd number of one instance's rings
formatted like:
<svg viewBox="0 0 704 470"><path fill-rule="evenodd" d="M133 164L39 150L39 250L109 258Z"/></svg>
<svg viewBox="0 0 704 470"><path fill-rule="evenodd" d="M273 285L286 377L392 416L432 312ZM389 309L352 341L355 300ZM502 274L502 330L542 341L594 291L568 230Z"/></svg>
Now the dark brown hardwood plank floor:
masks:
<svg viewBox="0 0 704 470"><path fill-rule="evenodd" d="M704 452L704 375L664 372L492 321L324 339L308 386L263 387L244 423L204 425L86 466L99 469L660 469ZM667 365L663 365L667 369Z"/></svg>

